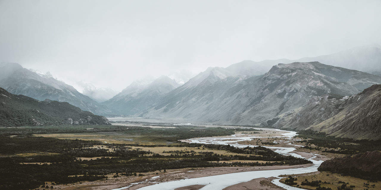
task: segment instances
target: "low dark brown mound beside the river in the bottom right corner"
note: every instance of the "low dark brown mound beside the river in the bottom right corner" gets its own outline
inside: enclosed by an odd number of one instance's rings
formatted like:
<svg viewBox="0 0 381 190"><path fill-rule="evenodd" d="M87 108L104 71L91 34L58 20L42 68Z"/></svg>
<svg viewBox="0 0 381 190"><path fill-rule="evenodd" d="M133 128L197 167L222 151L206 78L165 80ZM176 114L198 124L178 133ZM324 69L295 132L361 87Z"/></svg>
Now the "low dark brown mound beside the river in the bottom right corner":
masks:
<svg viewBox="0 0 381 190"><path fill-rule="evenodd" d="M329 171L345 176L360 177L368 180L381 180L381 152L359 153L343 158L324 161L319 171Z"/></svg>

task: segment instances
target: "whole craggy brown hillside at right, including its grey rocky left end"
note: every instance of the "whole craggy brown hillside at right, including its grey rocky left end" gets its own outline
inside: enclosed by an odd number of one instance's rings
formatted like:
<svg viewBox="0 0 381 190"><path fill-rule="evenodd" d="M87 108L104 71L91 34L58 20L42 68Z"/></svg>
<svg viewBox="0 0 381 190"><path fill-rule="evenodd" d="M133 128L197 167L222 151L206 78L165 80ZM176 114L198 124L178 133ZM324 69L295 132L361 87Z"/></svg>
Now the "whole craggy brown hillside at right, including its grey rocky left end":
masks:
<svg viewBox="0 0 381 190"><path fill-rule="evenodd" d="M280 117L276 128L312 129L336 137L381 139L381 85L344 96L318 96L298 113Z"/></svg>

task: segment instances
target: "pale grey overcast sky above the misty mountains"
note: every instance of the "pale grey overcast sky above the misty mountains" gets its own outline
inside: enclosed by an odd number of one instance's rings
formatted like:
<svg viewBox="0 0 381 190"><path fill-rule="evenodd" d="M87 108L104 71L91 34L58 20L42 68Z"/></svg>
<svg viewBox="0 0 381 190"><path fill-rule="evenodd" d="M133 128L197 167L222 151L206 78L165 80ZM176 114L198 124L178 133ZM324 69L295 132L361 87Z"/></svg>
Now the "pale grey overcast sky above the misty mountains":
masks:
<svg viewBox="0 0 381 190"><path fill-rule="evenodd" d="M81 91L381 43L381 1L0 0L0 62Z"/></svg>

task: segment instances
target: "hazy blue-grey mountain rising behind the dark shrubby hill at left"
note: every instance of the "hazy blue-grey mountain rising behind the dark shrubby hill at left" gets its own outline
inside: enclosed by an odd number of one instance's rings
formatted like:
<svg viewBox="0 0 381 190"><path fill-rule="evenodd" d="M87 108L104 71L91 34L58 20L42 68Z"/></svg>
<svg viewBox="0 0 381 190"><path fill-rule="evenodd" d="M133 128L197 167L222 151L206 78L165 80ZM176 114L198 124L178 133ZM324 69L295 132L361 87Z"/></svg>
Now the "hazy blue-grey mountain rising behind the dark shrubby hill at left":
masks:
<svg viewBox="0 0 381 190"><path fill-rule="evenodd" d="M0 64L0 87L13 94L22 94L39 101L51 99L69 102L82 110L105 115L111 111L88 96L79 93L73 86L59 81L51 75L37 74L17 63Z"/></svg>

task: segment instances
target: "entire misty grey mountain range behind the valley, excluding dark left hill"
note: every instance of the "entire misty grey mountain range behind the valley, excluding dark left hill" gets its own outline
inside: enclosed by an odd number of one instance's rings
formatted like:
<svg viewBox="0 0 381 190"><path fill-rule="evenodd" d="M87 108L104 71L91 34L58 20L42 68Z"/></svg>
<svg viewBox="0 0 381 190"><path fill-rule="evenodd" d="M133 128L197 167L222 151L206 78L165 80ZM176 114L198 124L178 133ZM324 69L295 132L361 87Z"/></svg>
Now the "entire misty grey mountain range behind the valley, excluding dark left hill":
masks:
<svg viewBox="0 0 381 190"><path fill-rule="evenodd" d="M380 62L379 45L299 61L247 60L226 68L209 67L182 85L167 76L135 81L101 103L98 102L105 100L105 96L98 96L96 102L51 75L37 74L19 64L0 65L0 86L10 93L39 101L69 102L106 116L308 128L339 137L357 134L358 138L379 139L380 114L375 103L379 97L375 89L379 87L374 85L381 83L377 75ZM96 91L96 87L90 86L86 94L95 98ZM364 111L369 106L375 109ZM362 129L366 131L362 133ZM372 131L373 136L367 131Z"/></svg>

